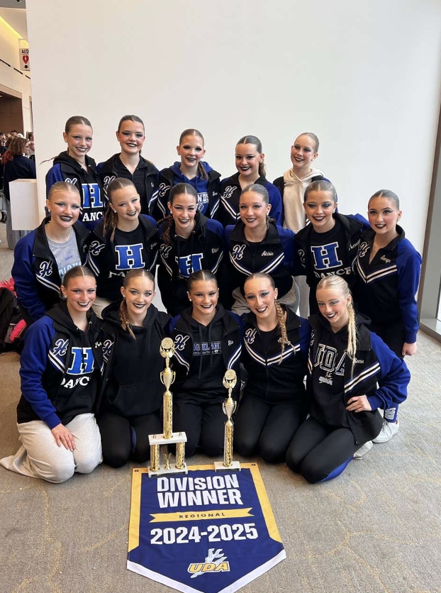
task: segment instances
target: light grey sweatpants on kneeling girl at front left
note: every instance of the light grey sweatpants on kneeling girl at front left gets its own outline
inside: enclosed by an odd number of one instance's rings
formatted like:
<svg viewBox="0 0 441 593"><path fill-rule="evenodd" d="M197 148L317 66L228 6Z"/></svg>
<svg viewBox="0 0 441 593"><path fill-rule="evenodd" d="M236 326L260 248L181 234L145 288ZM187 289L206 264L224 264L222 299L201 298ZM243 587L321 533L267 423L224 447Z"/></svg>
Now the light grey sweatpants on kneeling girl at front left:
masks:
<svg viewBox="0 0 441 593"><path fill-rule="evenodd" d="M0 459L6 470L48 482L65 482L74 472L89 474L103 460L101 436L94 414L79 414L66 424L74 436L73 451L58 447L49 426L41 420L17 424L23 443L15 455Z"/></svg>

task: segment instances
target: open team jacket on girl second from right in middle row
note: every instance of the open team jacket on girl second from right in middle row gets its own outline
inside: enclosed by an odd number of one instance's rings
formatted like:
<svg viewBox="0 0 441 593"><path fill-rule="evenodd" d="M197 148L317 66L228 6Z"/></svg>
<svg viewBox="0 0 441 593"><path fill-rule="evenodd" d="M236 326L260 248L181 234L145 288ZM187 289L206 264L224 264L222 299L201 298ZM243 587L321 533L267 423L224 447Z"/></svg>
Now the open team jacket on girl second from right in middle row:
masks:
<svg viewBox="0 0 441 593"><path fill-rule="evenodd" d="M355 260L357 259L359 243L362 238L362 233L369 227L369 223L360 214L345 215L333 214L333 217L340 221L342 231L345 235L345 245L339 245L345 250L348 259L348 269L345 270L345 280L352 287L355 284ZM321 269L320 277L316 277L313 267L313 253L311 250L311 233L313 225L308 224L301 231L298 231L294 237L296 249L296 276L306 276L306 282L311 289L315 289L321 278L333 274L333 264L337 260L337 248L335 243L330 245L323 245L320 253L316 253L317 261L320 261Z"/></svg>

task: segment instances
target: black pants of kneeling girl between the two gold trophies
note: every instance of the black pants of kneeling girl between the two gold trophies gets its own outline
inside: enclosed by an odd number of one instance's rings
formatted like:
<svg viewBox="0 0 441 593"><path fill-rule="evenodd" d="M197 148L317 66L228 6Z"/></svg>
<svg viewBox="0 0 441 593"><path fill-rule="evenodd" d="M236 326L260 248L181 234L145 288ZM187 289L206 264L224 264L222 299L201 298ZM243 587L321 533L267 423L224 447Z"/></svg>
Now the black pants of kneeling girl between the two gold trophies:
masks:
<svg viewBox="0 0 441 593"><path fill-rule="evenodd" d="M173 431L185 431L186 457L194 455L199 444L208 457L223 455L224 423L227 419L222 409L224 400L184 394L174 397Z"/></svg>

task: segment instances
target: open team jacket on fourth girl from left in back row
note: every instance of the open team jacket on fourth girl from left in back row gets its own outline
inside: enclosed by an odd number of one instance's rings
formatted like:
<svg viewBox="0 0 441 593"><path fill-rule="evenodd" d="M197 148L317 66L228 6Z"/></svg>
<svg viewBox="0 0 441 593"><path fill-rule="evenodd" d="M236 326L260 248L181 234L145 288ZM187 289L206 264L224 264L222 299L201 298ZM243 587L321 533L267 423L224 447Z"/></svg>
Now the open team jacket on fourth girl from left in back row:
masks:
<svg viewBox="0 0 441 593"><path fill-rule="evenodd" d="M269 194L269 204L271 204L269 216L274 218L274 221L276 221L277 224L281 225L282 204L279 189L267 181L267 178L263 176L259 177L255 183L263 185L263 187L267 188ZM239 201L241 193L242 188L240 187L239 183L239 173L235 173L231 177L222 179L220 182L220 206L215 218L217 218L217 220L220 221L223 226L235 224L239 220Z"/></svg>

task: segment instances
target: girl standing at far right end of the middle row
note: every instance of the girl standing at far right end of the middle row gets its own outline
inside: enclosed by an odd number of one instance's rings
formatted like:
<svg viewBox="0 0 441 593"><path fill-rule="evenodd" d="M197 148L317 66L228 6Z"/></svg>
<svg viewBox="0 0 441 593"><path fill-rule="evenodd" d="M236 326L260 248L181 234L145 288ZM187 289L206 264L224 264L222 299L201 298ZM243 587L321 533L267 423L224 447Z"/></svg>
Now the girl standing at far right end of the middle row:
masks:
<svg viewBox="0 0 441 593"><path fill-rule="evenodd" d="M365 231L357 257L355 298L360 313L372 320L374 331L397 356L416 352L421 256L398 226L398 196L380 189L368 204L371 228ZM398 406L384 411L384 424L374 443L386 443L398 432Z"/></svg>

